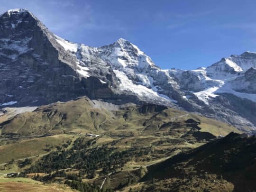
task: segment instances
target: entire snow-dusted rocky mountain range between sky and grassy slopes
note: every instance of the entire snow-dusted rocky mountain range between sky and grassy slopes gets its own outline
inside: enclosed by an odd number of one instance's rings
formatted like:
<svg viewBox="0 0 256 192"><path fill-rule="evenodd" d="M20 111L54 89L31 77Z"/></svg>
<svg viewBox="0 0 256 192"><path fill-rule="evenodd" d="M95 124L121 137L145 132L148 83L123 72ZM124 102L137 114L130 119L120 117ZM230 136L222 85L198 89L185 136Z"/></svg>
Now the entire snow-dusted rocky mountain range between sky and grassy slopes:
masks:
<svg viewBox="0 0 256 192"><path fill-rule="evenodd" d="M25 9L0 15L1 108L86 95L179 108L248 130L256 125L255 73L256 53L197 70L162 70L125 39L90 47L55 36Z"/></svg>

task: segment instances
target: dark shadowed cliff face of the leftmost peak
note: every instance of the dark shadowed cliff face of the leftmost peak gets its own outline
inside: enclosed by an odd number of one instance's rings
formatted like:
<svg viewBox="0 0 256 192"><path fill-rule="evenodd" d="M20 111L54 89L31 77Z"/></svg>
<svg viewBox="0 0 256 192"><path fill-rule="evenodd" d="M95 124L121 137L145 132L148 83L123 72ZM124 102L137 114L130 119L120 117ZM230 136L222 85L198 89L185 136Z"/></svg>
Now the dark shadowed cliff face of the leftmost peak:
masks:
<svg viewBox="0 0 256 192"><path fill-rule="evenodd" d="M54 95L70 94L61 90L79 87L72 68L59 59L53 34L30 12L10 10L0 17L0 25L2 102L53 101Z"/></svg>

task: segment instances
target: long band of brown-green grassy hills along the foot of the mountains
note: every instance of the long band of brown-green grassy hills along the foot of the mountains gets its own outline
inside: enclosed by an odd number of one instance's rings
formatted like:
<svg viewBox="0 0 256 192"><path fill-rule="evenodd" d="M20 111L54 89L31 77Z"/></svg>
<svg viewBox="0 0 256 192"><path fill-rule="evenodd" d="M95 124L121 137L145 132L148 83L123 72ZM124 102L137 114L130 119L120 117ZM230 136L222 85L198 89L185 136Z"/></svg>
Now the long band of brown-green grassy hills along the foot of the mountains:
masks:
<svg viewBox="0 0 256 192"><path fill-rule="evenodd" d="M236 128L214 119L150 104L123 107L113 111L96 109L87 97L65 103L57 102L42 106L34 112L21 113L0 124L0 129L2 135L6 136L108 132L108 134L135 136L168 133L173 134L174 137L181 137L190 130L185 122L188 119L199 121L200 131L210 132L214 136L225 136L231 131L239 132ZM172 131L174 129L175 131ZM176 129L184 130L178 133Z"/></svg>

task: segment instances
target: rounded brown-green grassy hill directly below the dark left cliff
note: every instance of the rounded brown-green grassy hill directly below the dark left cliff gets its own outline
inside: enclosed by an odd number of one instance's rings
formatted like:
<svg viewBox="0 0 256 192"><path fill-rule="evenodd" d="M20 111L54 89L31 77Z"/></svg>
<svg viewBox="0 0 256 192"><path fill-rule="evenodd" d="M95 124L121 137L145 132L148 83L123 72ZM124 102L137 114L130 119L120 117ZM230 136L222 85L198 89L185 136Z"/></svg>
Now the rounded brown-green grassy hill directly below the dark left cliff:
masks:
<svg viewBox="0 0 256 192"><path fill-rule="evenodd" d="M64 133L71 129L95 130L111 114L93 109L88 98L42 106L34 112L18 114L1 125L2 134L14 133L22 136L45 133Z"/></svg>

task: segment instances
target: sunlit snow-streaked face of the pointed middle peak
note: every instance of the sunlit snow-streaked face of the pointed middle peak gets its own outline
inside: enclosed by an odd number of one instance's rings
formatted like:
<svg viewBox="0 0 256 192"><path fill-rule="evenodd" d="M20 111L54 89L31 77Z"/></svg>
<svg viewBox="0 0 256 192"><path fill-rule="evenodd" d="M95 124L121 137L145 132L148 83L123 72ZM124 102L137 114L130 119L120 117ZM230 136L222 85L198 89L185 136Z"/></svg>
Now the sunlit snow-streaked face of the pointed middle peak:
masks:
<svg viewBox="0 0 256 192"><path fill-rule="evenodd" d="M119 79L120 90L127 90L142 101L159 101L166 105L174 105L175 99L181 97L175 94L179 89L176 79L156 67L149 56L129 41L121 38L109 46L97 48L96 52L110 64Z"/></svg>

